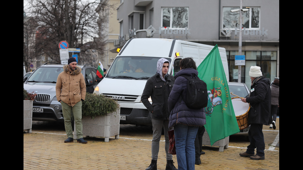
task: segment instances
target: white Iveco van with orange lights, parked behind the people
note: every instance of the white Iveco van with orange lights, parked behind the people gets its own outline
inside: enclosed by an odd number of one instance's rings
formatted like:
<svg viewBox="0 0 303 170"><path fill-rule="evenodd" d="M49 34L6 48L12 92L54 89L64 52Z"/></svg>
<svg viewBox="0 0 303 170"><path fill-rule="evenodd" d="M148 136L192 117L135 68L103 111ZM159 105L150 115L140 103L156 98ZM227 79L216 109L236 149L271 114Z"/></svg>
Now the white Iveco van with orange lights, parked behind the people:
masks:
<svg viewBox="0 0 303 170"><path fill-rule="evenodd" d="M157 61L160 58L169 60L168 73L174 75L180 71L181 59L192 57L198 67L213 47L177 39L130 39L116 56L94 93L117 99L121 106L121 124L151 126L151 113L140 99L147 79L156 74ZM225 48L219 48L219 52L226 78L229 80Z"/></svg>

